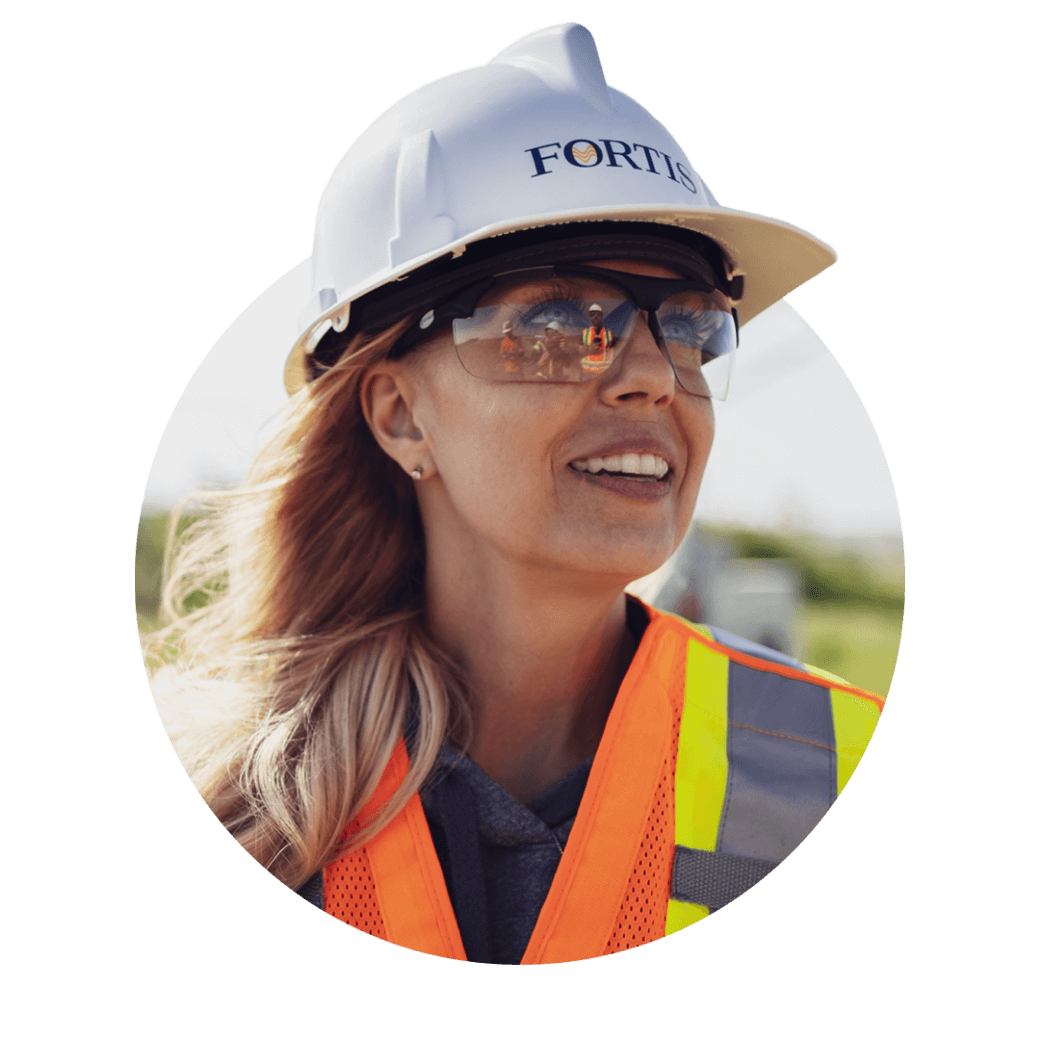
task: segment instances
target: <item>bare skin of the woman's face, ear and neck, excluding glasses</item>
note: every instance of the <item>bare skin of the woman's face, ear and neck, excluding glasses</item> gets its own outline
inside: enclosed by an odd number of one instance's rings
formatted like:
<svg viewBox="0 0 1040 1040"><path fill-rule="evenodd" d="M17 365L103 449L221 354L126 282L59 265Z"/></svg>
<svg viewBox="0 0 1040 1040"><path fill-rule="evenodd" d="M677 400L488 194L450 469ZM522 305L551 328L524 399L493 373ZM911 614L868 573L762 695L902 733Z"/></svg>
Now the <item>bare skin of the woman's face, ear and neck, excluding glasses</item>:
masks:
<svg viewBox="0 0 1040 1040"><path fill-rule="evenodd" d="M679 387L645 314L596 379L478 380L445 330L369 368L361 392L380 446L421 472L427 623L479 691L469 757L534 802L599 745L634 652L619 590L660 567L690 527L710 399ZM660 461L659 478L643 475L644 456L654 472ZM623 472L626 457L638 474ZM616 472L589 472L607 460Z"/></svg>

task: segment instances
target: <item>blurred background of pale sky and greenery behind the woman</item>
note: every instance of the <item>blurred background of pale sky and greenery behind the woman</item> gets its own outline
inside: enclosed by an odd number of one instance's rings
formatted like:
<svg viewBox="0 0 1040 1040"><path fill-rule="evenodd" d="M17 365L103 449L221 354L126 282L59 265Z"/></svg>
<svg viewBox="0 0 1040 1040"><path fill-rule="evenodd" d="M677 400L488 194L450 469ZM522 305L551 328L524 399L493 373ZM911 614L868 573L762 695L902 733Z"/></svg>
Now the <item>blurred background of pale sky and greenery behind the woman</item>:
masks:
<svg viewBox="0 0 1040 1040"><path fill-rule="evenodd" d="M236 485L286 401L282 367L309 289L304 262L257 297L174 408L141 500L142 628L156 624L170 510L193 489ZM714 414L694 524L631 591L887 695L903 628L902 524L856 387L781 301L742 329L729 398Z"/></svg>

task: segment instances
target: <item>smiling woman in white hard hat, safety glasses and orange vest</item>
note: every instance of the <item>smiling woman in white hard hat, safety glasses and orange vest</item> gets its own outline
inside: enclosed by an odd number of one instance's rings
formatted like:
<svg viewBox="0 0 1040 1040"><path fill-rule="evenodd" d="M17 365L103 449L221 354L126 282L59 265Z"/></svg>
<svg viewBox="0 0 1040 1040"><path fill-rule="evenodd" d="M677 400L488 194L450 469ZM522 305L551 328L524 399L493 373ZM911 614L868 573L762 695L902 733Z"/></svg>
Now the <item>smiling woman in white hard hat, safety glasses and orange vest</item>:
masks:
<svg viewBox="0 0 1040 1040"><path fill-rule="evenodd" d="M573 23L359 137L284 421L164 593L215 593L163 633L170 684L212 693L178 750L254 858L397 945L546 963L671 934L789 854L880 701L624 590L690 526L737 309L833 260L719 206ZM499 378L508 326L577 337L593 308L605 371Z"/></svg>

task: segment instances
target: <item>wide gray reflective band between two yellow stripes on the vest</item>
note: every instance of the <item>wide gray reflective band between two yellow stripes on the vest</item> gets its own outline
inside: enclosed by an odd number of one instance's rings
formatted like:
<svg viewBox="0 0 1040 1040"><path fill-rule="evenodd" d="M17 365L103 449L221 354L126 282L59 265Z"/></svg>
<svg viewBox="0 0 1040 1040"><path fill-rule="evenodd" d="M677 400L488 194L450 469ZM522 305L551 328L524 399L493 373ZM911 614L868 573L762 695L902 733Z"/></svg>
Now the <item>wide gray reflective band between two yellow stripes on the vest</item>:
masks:
<svg viewBox="0 0 1040 1040"><path fill-rule="evenodd" d="M838 797L827 686L729 662L729 780L716 850L777 863Z"/></svg>

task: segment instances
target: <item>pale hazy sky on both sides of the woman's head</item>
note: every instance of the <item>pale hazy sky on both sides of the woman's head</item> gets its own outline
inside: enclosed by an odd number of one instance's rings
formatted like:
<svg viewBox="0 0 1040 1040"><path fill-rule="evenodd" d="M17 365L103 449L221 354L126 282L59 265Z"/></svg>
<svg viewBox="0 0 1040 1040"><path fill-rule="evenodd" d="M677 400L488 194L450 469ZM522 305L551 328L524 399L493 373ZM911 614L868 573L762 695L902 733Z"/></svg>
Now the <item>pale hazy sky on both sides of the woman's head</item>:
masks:
<svg viewBox="0 0 1040 1040"><path fill-rule="evenodd" d="M258 287L209 348L156 445L142 512L244 474L287 400L282 369L310 294L309 266L305 260ZM728 398L713 405L716 440L695 520L832 539L901 537L895 489L866 408L789 303L742 328Z"/></svg>

